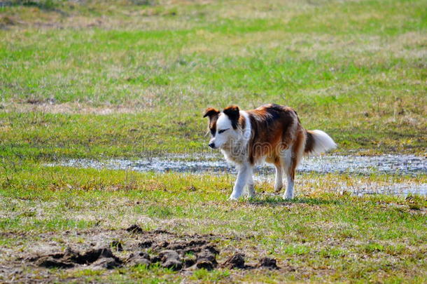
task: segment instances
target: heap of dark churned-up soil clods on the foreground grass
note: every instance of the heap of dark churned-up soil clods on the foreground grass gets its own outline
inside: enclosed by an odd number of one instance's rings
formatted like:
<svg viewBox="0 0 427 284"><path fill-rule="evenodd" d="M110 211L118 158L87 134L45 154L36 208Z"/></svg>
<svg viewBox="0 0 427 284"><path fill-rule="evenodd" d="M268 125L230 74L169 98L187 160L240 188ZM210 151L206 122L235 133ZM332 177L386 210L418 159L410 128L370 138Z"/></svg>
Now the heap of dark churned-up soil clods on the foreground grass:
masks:
<svg viewBox="0 0 427 284"><path fill-rule="evenodd" d="M221 266L228 269L278 269L276 259L264 257L255 266L245 264L245 255L235 253L223 264L218 264L216 257L220 253L213 240L213 235L181 235L165 230L144 231L134 224L125 229L127 237L107 242L108 246L76 250L67 248L65 252L52 253L30 258L37 266L46 268L69 269L81 265L94 268L114 269L120 266L160 264L174 271L207 269ZM113 254L120 253L120 257ZM148 253L150 252L150 253ZM129 253L127 257L123 257Z"/></svg>

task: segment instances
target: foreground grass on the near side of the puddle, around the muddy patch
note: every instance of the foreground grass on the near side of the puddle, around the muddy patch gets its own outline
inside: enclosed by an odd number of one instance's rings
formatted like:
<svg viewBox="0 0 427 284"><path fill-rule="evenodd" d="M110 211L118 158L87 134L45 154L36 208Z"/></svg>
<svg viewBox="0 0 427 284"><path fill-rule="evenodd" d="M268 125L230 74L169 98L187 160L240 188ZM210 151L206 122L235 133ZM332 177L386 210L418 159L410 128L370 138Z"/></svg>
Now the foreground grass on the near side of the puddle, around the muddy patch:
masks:
<svg viewBox="0 0 427 284"><path fill-rule="evenodd" d="M0 243L3 250L21 255L31 252L34 242L38 245L87 243L88 232L120 234L136 223L148 230L214 234L222 251L219 262L228 256L228 251L241 250L249 262L260 255L269 255L278 260L279 266L290 269L288 273L202 270L195 271L190 276L192 280L353 283L400 279L423 283L426 198L415 197L421 210L414 210L410 200L400 197L340 195L333 187L320 192L306 185L307 181L318 184L320 180L334 184L346 178L345 175L300 175L298 196L288 202L269 196L271 183L257 184L256 190L267 194L230 203L226 198L234 181L232 175L132 173L27 164L11 177L2 172L0 229L8 234L0 235ZM371 182L383 179L360 177L363 178ZM425 177L401 178L425 182ZM63 234L64 231L80 234ZM11 259L13 254L1 262ZM183 279L180 273L145 266L103 272L59 269L48 275L50 279L76 282L142 278L155 283Z"/></svg>

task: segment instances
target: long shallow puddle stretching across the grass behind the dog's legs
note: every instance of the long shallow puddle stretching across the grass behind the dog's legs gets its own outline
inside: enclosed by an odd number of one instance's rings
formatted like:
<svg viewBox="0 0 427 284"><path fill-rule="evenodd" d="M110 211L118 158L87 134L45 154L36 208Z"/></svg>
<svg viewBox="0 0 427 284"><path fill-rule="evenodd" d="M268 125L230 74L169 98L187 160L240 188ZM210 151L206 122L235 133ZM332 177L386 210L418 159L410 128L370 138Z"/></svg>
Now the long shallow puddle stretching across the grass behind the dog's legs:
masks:
<svg viewBox="0 0 427 284"><path fill-rule="evenodd" d="M114 170L135 170L138 172L178 172L178 173L235 173L235 168L221 156L162 156L138 160L110 159L94 161L71 159L52 165L75 168L108 168ZM271 173L269 165L258 166L260 174ZM402 156L321 156L304 158L298 170L302 173L355 173L369 175L387 173L391 175L418 175L427 173L427 158Z"/></svg>

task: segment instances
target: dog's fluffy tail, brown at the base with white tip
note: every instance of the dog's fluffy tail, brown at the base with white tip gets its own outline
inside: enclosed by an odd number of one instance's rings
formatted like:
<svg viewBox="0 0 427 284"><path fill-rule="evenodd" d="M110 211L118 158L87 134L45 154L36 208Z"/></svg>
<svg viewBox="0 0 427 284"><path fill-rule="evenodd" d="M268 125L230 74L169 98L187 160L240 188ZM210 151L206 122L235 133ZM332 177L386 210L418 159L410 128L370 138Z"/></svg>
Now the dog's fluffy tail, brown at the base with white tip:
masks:
<svg viewBox="0 0 427 284"><path fill-rule="evenodd" d="M320 155L335 148L337 148L337 144L322 130L307 130L304 154Z"/></svg>

